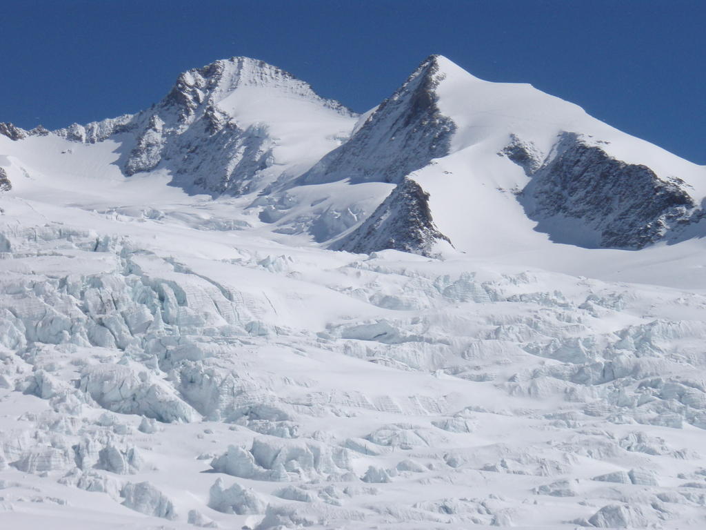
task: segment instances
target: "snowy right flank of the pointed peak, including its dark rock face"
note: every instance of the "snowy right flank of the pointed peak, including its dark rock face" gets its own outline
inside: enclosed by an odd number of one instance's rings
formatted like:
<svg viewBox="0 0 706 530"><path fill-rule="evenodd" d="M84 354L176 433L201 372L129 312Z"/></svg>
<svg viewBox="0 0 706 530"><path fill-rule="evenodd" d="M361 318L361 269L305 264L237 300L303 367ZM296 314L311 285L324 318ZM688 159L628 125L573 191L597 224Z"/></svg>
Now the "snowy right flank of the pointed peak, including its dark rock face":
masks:
<svg viewBox="0 0 706 530"><path fill-rule="evenodd" d="M536 232L570 245L637 249L702 232L702 167L531 85L482 81L442 61L433 98L453 135L446 155L414 179L429 193L435 229L458 249L541 245Z"/></svg>

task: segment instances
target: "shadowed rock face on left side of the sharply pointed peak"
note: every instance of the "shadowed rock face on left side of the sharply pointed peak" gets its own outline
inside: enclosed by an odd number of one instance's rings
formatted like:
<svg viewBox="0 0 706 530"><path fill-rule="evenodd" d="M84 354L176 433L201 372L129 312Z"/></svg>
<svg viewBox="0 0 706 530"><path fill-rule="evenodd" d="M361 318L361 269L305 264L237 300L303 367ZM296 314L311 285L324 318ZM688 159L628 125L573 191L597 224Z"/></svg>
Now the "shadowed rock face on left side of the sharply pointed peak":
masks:
<svg viewBox="0 0 706 530"><path fill-rule="evenodd" d="M456 126L436 106L434 88L441 79L437 57L431 56L381 103L349 141L302 175L301 182L350 179L352 184L397 184L433 158L447 155Z"/></svg>

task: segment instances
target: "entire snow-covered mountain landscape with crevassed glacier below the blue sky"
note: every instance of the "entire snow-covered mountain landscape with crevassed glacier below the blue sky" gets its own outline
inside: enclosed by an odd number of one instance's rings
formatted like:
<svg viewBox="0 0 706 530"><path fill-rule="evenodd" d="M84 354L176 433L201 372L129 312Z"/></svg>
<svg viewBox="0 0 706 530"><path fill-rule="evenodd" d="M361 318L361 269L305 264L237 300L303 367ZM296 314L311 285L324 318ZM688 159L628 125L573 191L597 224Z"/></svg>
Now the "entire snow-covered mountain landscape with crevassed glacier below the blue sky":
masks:
<svg viewBox="0 0 706 530"><path fill-rule="evenodd" d="M705 198L438 55L361 115L234 57L1 123L0 519L701 529Z"/></svg>

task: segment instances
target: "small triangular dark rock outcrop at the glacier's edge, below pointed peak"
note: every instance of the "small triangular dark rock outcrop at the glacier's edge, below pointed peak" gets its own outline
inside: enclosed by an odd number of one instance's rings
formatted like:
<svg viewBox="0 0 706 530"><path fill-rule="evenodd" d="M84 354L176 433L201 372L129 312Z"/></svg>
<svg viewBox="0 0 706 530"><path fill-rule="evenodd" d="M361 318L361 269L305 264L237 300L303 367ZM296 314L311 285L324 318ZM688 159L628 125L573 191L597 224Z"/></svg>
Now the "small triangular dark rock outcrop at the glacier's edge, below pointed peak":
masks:
<svg viewBox="0 0 706 530"><path fill-rule="evenodd" d="M450 243L433 223L429 194L405 178L359 228L330 248L368 254L395 249L430 256L438 241Z"/></svg>

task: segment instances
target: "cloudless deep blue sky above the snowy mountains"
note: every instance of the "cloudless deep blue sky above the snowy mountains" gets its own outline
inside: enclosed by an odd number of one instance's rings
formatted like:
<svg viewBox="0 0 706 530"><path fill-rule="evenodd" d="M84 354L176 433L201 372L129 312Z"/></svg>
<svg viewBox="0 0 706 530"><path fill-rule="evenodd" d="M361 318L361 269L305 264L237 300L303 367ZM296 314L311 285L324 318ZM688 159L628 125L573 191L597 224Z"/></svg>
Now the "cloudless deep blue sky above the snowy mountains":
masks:
<svg viewBox="0 0 706 530"><path fill-rule="evenodd" d="M361 112L431 53L706 164L704 0L0 0L0 121L136 112L234 55Z"/></svg>

